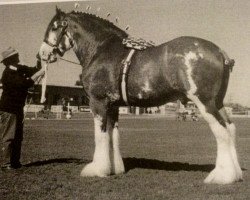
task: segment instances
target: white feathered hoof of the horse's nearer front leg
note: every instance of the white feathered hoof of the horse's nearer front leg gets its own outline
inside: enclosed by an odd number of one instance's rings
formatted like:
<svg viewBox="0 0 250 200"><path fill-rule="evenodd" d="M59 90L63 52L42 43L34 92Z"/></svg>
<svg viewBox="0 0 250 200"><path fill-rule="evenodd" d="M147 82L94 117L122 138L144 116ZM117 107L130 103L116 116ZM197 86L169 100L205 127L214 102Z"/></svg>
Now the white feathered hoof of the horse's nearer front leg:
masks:
<svg viewBox="0 0 250 200"><path fill-rule="evenodd" d="M101 168L100 164L98 165L97 163L89 163L87 164L83 170L81 171L81 176L82 177L93 177L93 176L98 176L98 177L106 177L110 175L110 167L105 167Z"/></svg>

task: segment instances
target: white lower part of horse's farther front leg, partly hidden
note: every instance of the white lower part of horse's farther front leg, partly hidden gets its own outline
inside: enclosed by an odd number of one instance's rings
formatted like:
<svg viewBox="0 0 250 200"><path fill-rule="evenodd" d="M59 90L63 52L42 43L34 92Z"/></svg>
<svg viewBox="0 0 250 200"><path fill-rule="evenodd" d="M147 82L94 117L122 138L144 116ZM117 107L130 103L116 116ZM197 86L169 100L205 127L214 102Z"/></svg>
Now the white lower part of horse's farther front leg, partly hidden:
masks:
<svg viewBox="0 0 250 200"><path fill-rule="evenodd" d="M118 131L118 125L116 124L113 130L114 173L115 174L121 174L125 172L119 146L120 146L120 134Z"/></svg>

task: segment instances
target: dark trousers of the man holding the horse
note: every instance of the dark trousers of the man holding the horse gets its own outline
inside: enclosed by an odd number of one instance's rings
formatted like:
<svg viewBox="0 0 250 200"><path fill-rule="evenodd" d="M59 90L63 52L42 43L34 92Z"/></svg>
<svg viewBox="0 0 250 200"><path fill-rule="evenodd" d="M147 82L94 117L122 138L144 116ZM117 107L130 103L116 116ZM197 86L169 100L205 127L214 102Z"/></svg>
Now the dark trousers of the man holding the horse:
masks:
<svg viewBox="0 0 250 200"><path fill-rule="evenodd" d="M20 164L23 140L23 112L12 114L0 111L0 133L2 134L3 165Z"/></svg>

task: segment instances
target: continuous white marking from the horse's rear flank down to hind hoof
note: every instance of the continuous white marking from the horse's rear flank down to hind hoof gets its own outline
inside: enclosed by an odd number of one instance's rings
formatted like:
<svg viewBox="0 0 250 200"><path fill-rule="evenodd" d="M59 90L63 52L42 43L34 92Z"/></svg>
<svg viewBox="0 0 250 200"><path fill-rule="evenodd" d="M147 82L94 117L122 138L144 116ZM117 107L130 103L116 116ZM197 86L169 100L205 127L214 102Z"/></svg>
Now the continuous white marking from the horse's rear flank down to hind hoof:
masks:
<svg viewBox="0 0 250 200"><path fill-rule="evenodd" d="M199 108L204 119L216 138L217 159L215 169L204 180L205 183L228 184L242 179L237 153L235 149L235 127L233 125L223 127L216 118L206 111L205 106L195 95L197 86L192 78L192 60L197 60L195 53L190 51L185 54L185 65L187 66L187 78L190 84L188 98L191 99Z"/></svg>

